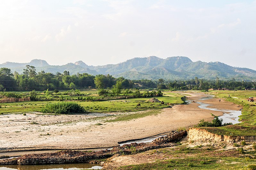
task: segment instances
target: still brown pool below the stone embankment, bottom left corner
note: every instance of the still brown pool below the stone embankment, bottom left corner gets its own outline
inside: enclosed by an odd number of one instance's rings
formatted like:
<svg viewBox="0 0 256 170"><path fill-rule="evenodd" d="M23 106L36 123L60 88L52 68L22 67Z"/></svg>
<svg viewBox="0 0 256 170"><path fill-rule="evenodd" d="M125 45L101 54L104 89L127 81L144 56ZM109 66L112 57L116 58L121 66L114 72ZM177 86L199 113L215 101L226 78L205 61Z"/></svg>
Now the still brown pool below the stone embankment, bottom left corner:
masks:
<svg viewBox="0 0 256 170"><path fill-rule="evenodd" d="M98 164L0 165L0 170L77 170L102 169Z"/></svg>

